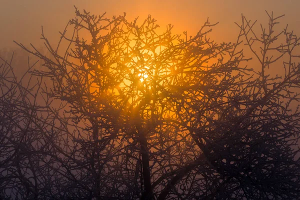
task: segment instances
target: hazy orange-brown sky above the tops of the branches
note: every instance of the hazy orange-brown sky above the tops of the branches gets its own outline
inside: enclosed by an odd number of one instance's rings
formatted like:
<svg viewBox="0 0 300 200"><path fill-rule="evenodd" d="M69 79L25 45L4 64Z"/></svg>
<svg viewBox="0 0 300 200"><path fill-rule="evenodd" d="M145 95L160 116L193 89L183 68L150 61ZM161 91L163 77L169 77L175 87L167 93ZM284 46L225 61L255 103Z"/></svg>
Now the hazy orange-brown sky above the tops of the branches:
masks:
<svg viewBox="0 0 300 200"><path fill-rule="evenodd" d="M151 14L161 27L171 23L174 31L187 30L189 34L209 17L212 22L219 21L213 35L224 40L235 38L238 29L234 21L240 20L241 13L266 22L267 10L285 14L282 23L300 34L300 0L0 0L0 48L15 46L12 40L41 45L41 25L55 43L58 31L74 17L73 5L94 14L106 11L107 17L126 12L130 20Z"/></svg>

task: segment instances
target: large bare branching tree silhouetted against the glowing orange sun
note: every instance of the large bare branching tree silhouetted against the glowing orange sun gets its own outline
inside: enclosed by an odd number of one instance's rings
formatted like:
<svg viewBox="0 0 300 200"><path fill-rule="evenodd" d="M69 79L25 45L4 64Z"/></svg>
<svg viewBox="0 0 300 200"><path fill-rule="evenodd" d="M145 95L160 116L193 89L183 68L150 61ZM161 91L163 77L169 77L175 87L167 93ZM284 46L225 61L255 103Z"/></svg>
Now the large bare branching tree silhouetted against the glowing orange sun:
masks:
<svg viewBox="0 0 300 200"><path fill-rule="evenodd" d="M268 17L260 36L242 16L236 42L217 43L208 20L195 36L174 35L151 16L139 24L76 8L56 47L42 31L50 56L17 43L43 61L32 74L51 86L36 110L36 165L6 181L20 198L297 199L299 39ZM281 59L285 73L269 74Z"/></svg>

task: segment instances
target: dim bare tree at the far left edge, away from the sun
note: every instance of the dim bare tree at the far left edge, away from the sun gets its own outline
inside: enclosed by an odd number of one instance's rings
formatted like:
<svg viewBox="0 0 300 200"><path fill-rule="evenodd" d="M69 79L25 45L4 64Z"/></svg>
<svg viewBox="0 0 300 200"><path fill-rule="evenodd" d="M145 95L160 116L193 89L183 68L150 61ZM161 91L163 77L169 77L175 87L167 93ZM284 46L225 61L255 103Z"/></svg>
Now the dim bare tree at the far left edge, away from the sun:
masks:
<svg viewBox="0 0 300 200"><path fill-rule="evenodd" d="M1 58L0 65L1 198L39 199L54 188L49 187L49 165L56 159L46 155L51 151L49 131L55 116L46 114L50 111L47 103L41 105L42 79L28 74L36 62L30 64L28 58L27 71L17 79L12 58Z"/></svg>

